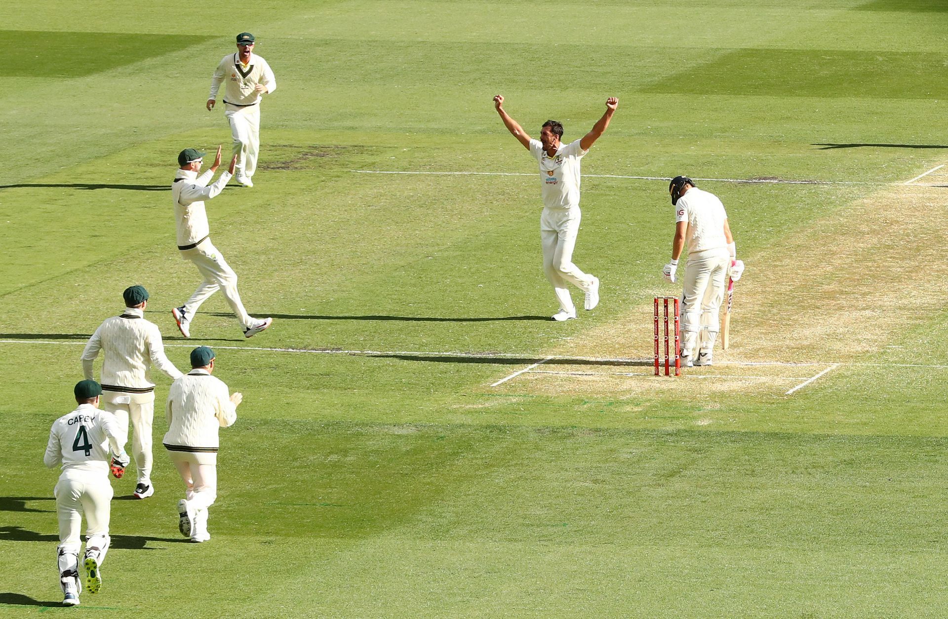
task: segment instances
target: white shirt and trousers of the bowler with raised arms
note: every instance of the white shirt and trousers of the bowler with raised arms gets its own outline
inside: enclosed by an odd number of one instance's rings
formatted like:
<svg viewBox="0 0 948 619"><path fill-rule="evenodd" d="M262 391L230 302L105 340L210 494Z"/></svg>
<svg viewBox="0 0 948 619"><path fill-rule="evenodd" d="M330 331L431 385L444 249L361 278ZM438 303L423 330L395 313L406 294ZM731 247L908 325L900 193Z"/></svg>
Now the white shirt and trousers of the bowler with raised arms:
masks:
<svg viewBox="0 0 948 619"><path fill-rule="evenodd" d="M543 272L553 284L559 308L575 313L573 299L566 284L572 283L586 292L596 279L573 264L573 250L579 233L579 163L589 151L579 146L580 140L560 145L551 157L538 139L530 140L530 154L537 157L540 182L543 184L543 212L539 218L540 241L543 246Z"/></svg>

